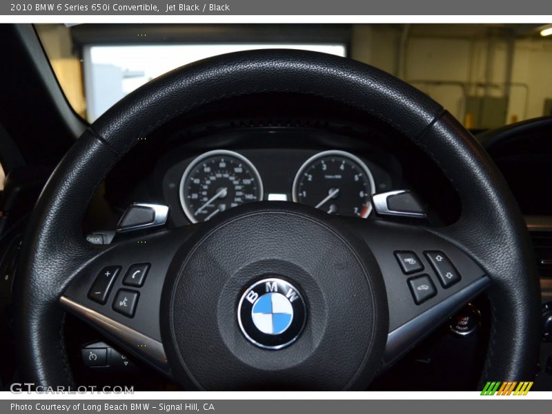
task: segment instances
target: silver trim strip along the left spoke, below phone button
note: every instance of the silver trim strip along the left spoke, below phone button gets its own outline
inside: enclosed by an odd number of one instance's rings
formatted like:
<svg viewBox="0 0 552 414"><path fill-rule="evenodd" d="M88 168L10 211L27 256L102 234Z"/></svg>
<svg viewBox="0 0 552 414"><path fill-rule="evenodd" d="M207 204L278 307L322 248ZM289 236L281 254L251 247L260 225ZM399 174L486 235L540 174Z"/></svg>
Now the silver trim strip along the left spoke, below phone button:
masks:
<svg viewBox="0 0 552 414"><path fill-rule="evenodd" d="M167 362L167 357L163 344L161 342L152 339L143 333L139 333L128 326L121 324L97 311L94 311L86 306L75 302L68 297L62 296L59 298L59 302L68 311L71 311L75 315L81 317L86 322L89 322L92 326L99 328L99 330L119 343L121 346L142 359L148 364L154 366L159 371L165 374L170 373L170 368Z"/></svg>

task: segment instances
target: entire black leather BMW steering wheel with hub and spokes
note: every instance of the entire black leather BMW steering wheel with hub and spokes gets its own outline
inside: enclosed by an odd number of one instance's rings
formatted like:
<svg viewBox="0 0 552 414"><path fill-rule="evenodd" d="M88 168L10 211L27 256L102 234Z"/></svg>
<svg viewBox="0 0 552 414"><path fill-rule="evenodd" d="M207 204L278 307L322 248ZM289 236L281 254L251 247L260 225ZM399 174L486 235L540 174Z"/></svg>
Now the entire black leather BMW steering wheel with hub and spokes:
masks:
<svg viewBox="0 0 552 414"><path fill-rule="evenodd" d="M433 228L268 201L138 239L86 242L81 224L92 194L141 137L207 103L286 92L361 110L411 139L457 190L460 219ZM422 257L426 275L404 275L397 251ZM439 274L439 258L452 280ZM146 280L129 287L124 273L141 263L150 264ZM184 388L364 389L486 292L492 322L482 380L527 380L540 342L534 263L502 175L422 92L363 63L315 52L222 55L132 92L52 173L15 286L21 374L35 384L71 384L63 342L70 312Z"/></svg>

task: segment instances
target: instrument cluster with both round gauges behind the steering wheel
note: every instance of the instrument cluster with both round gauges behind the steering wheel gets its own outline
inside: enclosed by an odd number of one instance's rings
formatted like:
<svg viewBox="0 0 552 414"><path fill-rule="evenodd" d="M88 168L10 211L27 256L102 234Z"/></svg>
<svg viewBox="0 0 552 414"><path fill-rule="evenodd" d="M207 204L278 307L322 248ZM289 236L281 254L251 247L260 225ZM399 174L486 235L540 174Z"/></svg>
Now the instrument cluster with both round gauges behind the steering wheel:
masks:
<svg viewBox="0 0 552 414"><path fill-rule="evenodd" d="M390 186L380 166L343 150L215 149L175 164L164 179L164 192L191 223L262 200L366 218L371 195Z"/></svg>

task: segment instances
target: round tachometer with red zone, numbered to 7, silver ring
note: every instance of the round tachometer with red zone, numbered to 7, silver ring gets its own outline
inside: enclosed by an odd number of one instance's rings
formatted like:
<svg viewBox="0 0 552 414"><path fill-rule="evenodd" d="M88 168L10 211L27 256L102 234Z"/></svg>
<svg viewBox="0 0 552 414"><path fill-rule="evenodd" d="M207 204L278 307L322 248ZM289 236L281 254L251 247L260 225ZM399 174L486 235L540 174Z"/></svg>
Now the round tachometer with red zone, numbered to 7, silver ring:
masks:
<svg viewBox="0 0 552 414"><path fill-rule="evenodd" d="M293 201L329 214L368 217L375 191L372 173L355 155L324 151L306 160L293 181Z"/></svg>

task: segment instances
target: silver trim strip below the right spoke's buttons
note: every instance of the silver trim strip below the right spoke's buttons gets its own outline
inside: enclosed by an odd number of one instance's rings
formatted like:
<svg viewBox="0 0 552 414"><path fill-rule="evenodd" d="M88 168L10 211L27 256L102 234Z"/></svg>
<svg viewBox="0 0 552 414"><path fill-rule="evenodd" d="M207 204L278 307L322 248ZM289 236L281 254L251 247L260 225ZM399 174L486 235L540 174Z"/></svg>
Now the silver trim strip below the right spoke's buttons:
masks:
<svg viewBox="0 0 552 414"><path fill-rule="evenodd" d="M384 367L393 364L399 357L409 351L417 342L440 326L440 322L453 315L470 299L482 293L491 285L489 276L484 275L462 290L444 299L433 308L399 326L387 335L384 351Z"/></svg>

